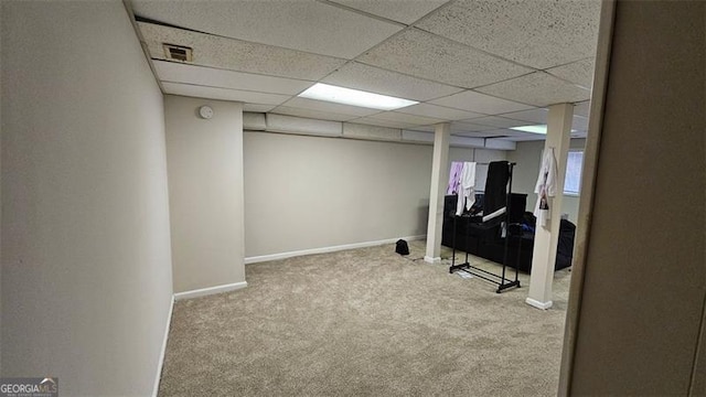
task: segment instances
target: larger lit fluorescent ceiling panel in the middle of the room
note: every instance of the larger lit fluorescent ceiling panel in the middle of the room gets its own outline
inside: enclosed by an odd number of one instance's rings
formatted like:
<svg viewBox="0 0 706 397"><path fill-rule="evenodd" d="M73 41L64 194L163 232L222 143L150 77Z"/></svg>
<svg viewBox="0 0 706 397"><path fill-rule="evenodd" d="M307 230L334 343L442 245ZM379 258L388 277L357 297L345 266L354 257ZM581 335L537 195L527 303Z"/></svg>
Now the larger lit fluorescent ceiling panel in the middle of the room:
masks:
<svg viewBox="0 0 706 397"><path fill-rule="evenodd" d="M415 100L395 98L387 95L366 93L357 89L336 87L317 83L298 96L309 99L332 101L381 110L394 110L419 104Z"/></svg>

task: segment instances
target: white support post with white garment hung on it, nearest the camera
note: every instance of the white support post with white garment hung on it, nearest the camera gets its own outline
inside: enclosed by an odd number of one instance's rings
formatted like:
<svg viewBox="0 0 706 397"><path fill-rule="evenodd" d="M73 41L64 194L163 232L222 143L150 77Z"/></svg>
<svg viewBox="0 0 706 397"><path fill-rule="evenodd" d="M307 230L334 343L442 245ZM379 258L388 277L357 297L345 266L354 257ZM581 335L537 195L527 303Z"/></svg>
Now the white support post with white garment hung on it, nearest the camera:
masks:
<svg viewBox="0 0 706 397"><path fill-rule="evenodd" d="M571 140L573 118L574 105L558 104L549 106L544 150L554 148L557 164L556 196L552 198L549 204L550 221L547 223L547 227L542 226L538 222L535 227L530 296L526 299L528 304L544 310L552 307L552 281L554 281L554 262L556 261L556 249L559 240L564 175L566 174L566 159Z"/></svg>

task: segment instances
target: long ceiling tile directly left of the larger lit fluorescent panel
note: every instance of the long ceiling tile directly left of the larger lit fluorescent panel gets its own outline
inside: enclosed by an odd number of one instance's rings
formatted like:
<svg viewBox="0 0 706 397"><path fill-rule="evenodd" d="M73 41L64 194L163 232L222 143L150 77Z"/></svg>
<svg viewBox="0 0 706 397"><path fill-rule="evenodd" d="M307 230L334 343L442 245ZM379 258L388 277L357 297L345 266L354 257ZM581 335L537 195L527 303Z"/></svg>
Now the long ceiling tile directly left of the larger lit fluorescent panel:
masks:
<svg viewBox="0 0 706 397"><path fill-rule="evenodd" d="M216 69L176 62L154 61L157 75L162 82L185 83L211 87L254 90L271 94L296 95L313 83L263 76L252 73Z"/></svg>

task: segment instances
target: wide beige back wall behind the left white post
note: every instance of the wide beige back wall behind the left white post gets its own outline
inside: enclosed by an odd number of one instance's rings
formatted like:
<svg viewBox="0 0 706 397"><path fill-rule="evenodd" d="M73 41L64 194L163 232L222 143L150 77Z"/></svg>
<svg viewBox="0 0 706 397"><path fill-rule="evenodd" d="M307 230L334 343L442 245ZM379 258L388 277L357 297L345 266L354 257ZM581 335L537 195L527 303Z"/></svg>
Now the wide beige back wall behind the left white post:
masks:
<svg viewBox="0 0 706 397"><path fill-rule="evenodd" d="M247 257L426 234L431 146L245 132Z"/></svg>

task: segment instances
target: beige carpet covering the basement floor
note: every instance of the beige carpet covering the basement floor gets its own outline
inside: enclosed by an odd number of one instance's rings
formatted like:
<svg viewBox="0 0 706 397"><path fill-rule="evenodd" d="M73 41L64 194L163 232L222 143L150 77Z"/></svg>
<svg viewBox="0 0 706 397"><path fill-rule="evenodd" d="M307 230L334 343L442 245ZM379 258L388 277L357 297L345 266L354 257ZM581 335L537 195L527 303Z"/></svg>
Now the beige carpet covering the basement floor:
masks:
<svg viewBox="0 0 706 397"><path fill-rule="evenodd" d="M527 275L498 294L449 275L450 250L394 249L249 265L248 288L176 302L160 396L556 395L568 270L541 311Z"/></svg>

